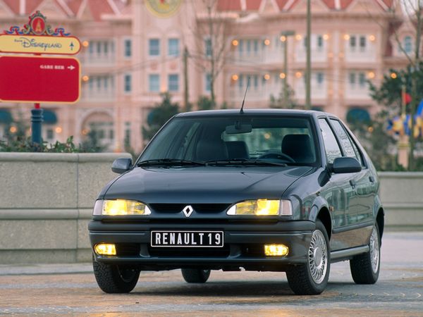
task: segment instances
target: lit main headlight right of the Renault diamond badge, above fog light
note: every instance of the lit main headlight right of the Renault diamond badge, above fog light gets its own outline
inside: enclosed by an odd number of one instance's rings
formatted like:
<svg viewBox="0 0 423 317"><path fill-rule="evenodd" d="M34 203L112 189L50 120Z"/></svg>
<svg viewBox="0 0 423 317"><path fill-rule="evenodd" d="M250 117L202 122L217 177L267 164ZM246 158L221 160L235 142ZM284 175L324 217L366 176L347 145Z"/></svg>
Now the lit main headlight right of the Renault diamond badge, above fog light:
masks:
<svg viewBox="0 0 423 317"><path fill-rule="evenodd" d="M246 200L233 205L226 214L229 216L292 216L293 207L289 200Z"/></svg>

